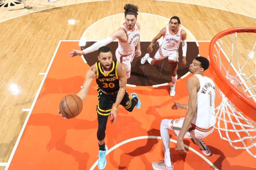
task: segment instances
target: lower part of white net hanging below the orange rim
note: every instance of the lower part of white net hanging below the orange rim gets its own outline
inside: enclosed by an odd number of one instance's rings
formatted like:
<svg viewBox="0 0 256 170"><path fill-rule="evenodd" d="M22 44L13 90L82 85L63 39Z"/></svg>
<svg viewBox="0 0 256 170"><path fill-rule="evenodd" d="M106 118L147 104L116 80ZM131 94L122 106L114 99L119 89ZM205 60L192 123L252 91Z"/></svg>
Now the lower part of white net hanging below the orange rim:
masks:
<svg viewBox="0 0 256 170"><path fill-rule="evenodd" d="M256 123L246 119L222 92L220 94L222 102L215 108L215 128L218 129L220 137L227 140L233 148L245 149L256 158Z"/></svg>

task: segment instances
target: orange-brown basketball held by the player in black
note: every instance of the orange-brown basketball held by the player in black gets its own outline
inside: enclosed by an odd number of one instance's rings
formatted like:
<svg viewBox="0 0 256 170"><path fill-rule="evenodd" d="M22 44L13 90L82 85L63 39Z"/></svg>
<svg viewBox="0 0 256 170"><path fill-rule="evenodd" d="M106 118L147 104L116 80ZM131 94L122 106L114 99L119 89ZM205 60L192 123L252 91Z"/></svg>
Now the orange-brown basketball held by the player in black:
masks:
<svg viewBox="0 0 256 170"><path fill-rule="evenodd" d="M68 94L60 101L60 113L67 118L74 118L82 111L83 102L76 94Z"/></svg>

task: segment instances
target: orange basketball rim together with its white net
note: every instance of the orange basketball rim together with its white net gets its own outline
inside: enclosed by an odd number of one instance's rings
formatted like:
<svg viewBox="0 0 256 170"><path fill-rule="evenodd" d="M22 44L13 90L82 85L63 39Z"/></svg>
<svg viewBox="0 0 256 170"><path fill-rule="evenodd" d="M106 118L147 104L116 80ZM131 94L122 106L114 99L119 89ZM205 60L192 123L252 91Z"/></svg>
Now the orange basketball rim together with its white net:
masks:
<svg viewBox="0 0 256 170"><path fill-rule="evenodd" d="M227 140L235 149L245 149L256 158L256 62L251 75L244 74L246 64L255 53L256 41L243 63L239 58L236 37L238 33L256 33L256 27L239 27L224 30L215 35L209 46L209 59L215 75L213 79L220 88L222 102L215 108L220 137ZM227 56L223 51L222 37L230 35L232 53ZM233 37L235 35L235 42ZM226 38L227 38L226 37ZM234 47L235 46L235 47ZM234 57L234 53L236 57ZM235 58L235 59L234 59ZM234 61L235 60L235 61ZM236 69L233 63L236 62ZM242 65L240 66L240 64ZM248 73L247 73L248 74ZM253 80L253 81L252 81ZM253 82L253 83L252 83ZM231 102L232 101L232 102ZM246 117L250 117L251 120Z"/></svg>

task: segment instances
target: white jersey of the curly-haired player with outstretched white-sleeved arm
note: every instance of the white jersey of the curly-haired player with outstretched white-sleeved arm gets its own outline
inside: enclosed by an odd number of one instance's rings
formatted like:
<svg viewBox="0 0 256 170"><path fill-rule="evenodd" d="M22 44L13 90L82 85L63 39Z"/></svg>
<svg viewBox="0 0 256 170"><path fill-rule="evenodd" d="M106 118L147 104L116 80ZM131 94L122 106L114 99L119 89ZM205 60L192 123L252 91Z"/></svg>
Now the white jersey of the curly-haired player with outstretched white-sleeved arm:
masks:
<svg viewBox="0 0 256 170"><path fill-rule="evenodd" d="M135 47L138 44L139 38L140 38L140 30L139 27L137 25L137 23L135 23L134 26L134 31L130 30L129 28L127 28L126 25L122 25L121 28L124 29L126 35L127 35L127 41L123 42L118 40L118 52L120 55L122 56L128 56L131 55L133 53L133 51L135 51Z"/></svg>

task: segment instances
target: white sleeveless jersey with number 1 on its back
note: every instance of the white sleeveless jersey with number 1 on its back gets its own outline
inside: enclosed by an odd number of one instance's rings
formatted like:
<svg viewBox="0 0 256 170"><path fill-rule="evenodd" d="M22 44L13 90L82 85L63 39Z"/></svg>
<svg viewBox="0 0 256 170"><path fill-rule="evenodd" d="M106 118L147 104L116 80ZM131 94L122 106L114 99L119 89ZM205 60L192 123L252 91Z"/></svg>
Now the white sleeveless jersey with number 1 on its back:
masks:
<svg viewBox="0 0 256 170"><path fill-rule="evenodd" d="M192 123L196 127L208 129L214 126L216 122L214 112L215 84L211 78L200 74L194 76L199 80L200 89L197 92L196 116Z"/></svg>

